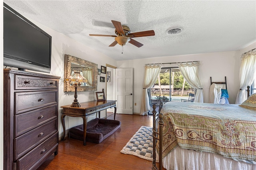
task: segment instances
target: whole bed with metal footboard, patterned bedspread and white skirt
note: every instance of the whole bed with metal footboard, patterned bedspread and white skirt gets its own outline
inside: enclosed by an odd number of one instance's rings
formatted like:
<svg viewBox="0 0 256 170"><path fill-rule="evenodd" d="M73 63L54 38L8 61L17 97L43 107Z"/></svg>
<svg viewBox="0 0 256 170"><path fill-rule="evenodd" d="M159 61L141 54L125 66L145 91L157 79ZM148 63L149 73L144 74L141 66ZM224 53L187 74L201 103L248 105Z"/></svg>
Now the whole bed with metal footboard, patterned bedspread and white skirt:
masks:
<svg viewBox="0 0 256 170"><path fill-rule="evenodd" d="M152 169L159 161L167 170L256 170L256 94L247 100L154 106Z"/></svg>

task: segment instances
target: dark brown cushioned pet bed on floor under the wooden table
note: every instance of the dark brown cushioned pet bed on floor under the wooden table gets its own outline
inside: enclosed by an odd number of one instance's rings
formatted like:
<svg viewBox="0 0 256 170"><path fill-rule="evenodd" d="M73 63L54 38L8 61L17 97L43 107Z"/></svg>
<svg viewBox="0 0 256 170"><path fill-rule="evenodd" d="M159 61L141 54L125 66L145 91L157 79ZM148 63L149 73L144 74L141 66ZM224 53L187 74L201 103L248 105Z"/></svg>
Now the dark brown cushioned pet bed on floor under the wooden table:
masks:
<svg viewBox="0 0 256 170"><path fill-rule="evenodd" d="M113 134L120 128L121 122L110 119L93 119L87 123L86 141L93 143L100 143L108 136ZM69 130L70 137L78 140L84 140L83 125L78 125Z"/></svg>

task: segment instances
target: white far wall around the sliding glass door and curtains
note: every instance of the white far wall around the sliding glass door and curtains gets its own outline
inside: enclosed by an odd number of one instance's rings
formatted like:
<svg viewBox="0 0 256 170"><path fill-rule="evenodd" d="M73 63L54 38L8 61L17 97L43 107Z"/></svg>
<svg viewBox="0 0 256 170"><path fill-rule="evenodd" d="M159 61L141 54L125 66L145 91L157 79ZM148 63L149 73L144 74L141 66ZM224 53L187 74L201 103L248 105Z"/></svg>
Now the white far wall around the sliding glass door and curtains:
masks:
<svg viewBox="0 0 256 170"><path fill-rule="evenodd" d="M144 69L145 64L148 63L200 61L199 70L204 89L204 102L208 103L209 99L210 77L212 77L212 81L225 81L226 76L229 102L230 104L234 104L236 101L237 92L239 90L239 69L241 63L241 54L255 48L255 46L256 43L253 43L248 47L238 51L134 59L128 61L118 61L117 64L118 68L134 68L133 102L137 103L136 106L134 105L134 113L140 113Z"/></svg>

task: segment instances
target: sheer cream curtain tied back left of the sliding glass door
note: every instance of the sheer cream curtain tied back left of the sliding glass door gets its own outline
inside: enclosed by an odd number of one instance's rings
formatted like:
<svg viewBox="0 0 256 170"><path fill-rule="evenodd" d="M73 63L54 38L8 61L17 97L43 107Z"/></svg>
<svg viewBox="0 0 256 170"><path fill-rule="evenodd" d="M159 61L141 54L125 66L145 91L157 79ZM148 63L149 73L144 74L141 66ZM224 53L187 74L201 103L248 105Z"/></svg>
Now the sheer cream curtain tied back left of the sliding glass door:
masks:
<svg viewBox="0 0 256 170"><path fill-rule="evenodd" d="M142 101L140 107L140 115L148 115L150 111L147 89L152 87L161 71L161 64L150 64L145 66L144 85L142 91Z"/></svg>

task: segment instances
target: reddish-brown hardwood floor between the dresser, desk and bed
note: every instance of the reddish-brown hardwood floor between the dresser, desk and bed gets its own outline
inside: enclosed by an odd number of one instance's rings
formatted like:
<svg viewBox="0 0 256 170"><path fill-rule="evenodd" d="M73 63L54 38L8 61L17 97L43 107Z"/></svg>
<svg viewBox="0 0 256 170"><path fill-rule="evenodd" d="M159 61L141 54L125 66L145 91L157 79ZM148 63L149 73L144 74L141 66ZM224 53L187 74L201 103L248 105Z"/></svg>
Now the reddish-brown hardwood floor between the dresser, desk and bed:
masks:
<svg viewBox="0 0 256 170"><path fill-rule="evenodd" d="M114 119L114 115L108 117ZM121 127L100 144L67 138L59 143L58 155L50 156L38 170L151 170L152 162L120 150L141 126L152 127L152 115L121 115Z"/></svg>

